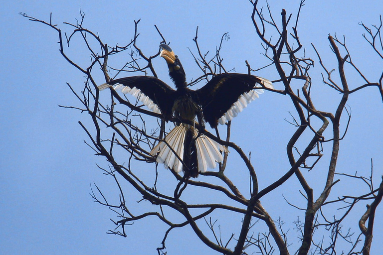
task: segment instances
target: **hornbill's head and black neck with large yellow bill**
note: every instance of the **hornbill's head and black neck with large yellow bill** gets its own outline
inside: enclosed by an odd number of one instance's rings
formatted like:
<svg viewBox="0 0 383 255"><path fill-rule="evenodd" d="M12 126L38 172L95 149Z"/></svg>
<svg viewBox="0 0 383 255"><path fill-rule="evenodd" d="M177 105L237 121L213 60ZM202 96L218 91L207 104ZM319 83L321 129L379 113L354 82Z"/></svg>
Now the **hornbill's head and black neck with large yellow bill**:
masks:
<svg viewBox="0 0 383 255"><path fill-rule="evenodd" d="M168 64L170 78L177 88L186 87L185 71L178 56L166 44L161 44L160 48L162 49L160 57L163 57Z"/></svg>

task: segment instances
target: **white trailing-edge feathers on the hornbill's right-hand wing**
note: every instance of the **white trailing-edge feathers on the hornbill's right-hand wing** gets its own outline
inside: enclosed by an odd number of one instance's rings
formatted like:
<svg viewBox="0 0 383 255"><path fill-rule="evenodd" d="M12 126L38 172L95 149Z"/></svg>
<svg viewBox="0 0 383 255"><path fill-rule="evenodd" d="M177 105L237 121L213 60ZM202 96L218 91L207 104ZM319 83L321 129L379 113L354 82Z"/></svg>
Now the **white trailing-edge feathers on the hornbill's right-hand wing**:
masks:
<svg viewBox="0 0 383 255"><path fill-rule="evenodd" d="M259 83L255 84L255 88L253 90L250 90L249 92L243 93L242 95L239 96L238 100L231 105L230 109L227 110L227 112L222 115L221 118L218 119L218 123L221 125L224 125L228 121L231 121L234 117L236 117L244 108L247 107L248 104L250 104L252 101L254 101L256 98L259 98L259 95L263 94L262 87L266 87L269 89L273 89L273 84L264 78L258 77L262 85Z"/></svg>

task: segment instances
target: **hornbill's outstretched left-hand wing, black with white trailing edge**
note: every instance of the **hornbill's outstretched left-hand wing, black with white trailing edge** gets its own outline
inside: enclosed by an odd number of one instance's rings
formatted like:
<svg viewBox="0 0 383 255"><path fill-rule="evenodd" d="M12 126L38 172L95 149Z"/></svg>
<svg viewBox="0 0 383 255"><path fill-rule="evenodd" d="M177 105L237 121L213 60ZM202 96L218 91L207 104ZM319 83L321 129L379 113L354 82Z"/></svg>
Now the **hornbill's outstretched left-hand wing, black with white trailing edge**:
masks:
<svg viewBox="0 0 383 255"><path fill-rule="evenodd" d="M165 82L151 76L132 76L112 80L98 86L100 91L113 87L124 94L131 94L140 100L149 110L163 114L166 119L172 115L175 90Z"/></svg>

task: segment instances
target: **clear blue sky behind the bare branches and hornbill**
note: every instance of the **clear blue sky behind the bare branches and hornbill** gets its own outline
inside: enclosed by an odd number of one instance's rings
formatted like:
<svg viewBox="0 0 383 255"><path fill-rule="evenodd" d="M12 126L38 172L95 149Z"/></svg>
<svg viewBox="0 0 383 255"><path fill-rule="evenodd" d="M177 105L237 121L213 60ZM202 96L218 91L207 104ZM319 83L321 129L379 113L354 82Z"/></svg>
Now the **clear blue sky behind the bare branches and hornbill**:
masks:
<svg viewBox="0 0 383 255"><path fill-rule="evenodd" d="M260 3L265 4L265 1ZM296 14L299 1L270 0L269 4L275 17L279 18L282 8L287 13ZM87 114L58 107L77 104L66 83L80 88L84 78L61 57L56 43L57 33L53 29L28 21L18 13L49 20L52 12L53 23L65 30L67 27L63 22L76 22L75 19L80 18L81 6L86 15L84 26L98 32L109 45L129 42L134 33L134 20L141 19L138 43L148 52L157 51L161 41L154 27L156 24L171 41L190 80L200 75L188 49L193 49L196 26L199 26L198 40L203 51L213 51L222 34L229 33L230 40L224 43L222 54L225 66L235 68L236 72L246 72L245 60L254 68L268 63L261 55L262 47L252 26L251 4L247 0L16 0L1 5L0 254L156 254L155 248L160 245L166 230L166 226L158 221L150 221L149 232L143 222L135 223L129 229L128 238L105 234L114 227L109 218L115 219L115 214L93 202L89 195L90 185L95 182L105 192L110 191L112 197L117 194L116 186L96 166L96 163L106 166L104 159L95 156L84 143L87 136L78 121L89 121ZM374 56L362 37L363 27L358 23L379 24L380 14L383 14L381 0L362 3L356 0L307 0L298 26L300 39L314 60L317 61L311 42L326 63L336 68L327 36L329 33L344 34L353 60L371 80L377 81L382 71L382 59ZM88 61L88 53L81 50L84 47L73 47L70 55L78 61ZM165 61L156 60L155 65L157 70L162 70L159 78L171 84ZM325 88L318 63L316 68L313 93L317 93L317 106L334 112L332 100L337 100L338 95ZM264 69L257 75L270 80L278 78L273 69ZM351 86L361 85L355 74L350 73L349 77ZM100 84L104 82L101 76L99 79ZM381 99L377 90L367 89L352 97L349 106L353 119L349 133L341 143L339 172L354 174L358 171L368 176L373 158L375 185L378 186L379 176L383 174ZM259 162L257 166L268 171L259 173L262 187L289 168L285 144L294 128L284 119L290 118L288 112L291 110L286 98L265 93L233 121L232 139L244 151L252 150L252 159ZM252 118L254 113L257 118ZM242 127L251 128L245 130ZM244 137L244 132L249 134ZM235 161L231 166L235 171ZM232 176L235 178L235 174ZM307 178L315 182L319 177L312 174ZM274 209L270 210L275 219L279 216L275 204L285 203L282 193L291 200L299 196L297 190L286 190L262 201L269 207L274 204ZM294 217L286 216L285 221L291 224ZM382 205L378 208L377 219L382 223ZM379 251L377 244L383 241L379 234L382 228L378 225L374 235L377 243L374 245L373 242L375 254ZM357 228L357 225L353 227ZM293 227L291 231L295 232ZM189 239L191 246L185 241ZM190 229L175 231L169 240L169 254L207 251L192 236Z"/></svg>

